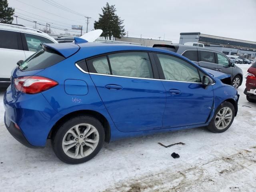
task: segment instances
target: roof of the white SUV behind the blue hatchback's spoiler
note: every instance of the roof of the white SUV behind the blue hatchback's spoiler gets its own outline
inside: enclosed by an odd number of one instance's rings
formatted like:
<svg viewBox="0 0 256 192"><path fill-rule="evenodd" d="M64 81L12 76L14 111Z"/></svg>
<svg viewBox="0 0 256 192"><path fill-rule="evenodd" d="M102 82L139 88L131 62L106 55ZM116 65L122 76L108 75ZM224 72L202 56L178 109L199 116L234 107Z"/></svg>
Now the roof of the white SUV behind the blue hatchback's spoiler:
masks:
<svg viewBox="0 0 256 192"><path fill-rule="evenodd" d="M12 24L0 23L0 30L10 30L10 31L24 32L24 33L44 36L46 38L51 39L52 41L54 41L56 43L56 40L54 38L52 38L51 36L49 36L48 34L42 32L40 30L33 29L33 28L28 28L28 27L18 26L18 25L12 25Z"/></svg>

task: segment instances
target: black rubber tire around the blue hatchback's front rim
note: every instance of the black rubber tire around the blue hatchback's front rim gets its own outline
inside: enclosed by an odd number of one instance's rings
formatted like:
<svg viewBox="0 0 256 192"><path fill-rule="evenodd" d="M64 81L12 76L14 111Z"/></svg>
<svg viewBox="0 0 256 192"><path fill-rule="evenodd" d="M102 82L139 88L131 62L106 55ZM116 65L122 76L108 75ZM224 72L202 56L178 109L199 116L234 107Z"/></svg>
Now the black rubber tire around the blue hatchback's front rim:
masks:
<svg viewBox="0 0 256 192"><path fill-rule="evenodd" d="M215 125L215 120L216 120L216 116L218 114L218 112L220 110L222 110L222 108L224 107L228 107L232 110L232 119L230 121L230 123L228 124L228 126L224 129L218 129ZM230 102L223 102L222 104L220 104L220 106L218 106L218 108L216 109L215 113L214 113L214 116L212 117L212 120L211 122L209 123L209 125L207 126L208 130L210 130L211 132L214 132L214 133L222 133L222 132L225 132L226 130L228 130L228 128L230 128L231 124L233 123L233 120L234 120L234 117L235 117L235 108L234 108L234 105Z"/></svg>

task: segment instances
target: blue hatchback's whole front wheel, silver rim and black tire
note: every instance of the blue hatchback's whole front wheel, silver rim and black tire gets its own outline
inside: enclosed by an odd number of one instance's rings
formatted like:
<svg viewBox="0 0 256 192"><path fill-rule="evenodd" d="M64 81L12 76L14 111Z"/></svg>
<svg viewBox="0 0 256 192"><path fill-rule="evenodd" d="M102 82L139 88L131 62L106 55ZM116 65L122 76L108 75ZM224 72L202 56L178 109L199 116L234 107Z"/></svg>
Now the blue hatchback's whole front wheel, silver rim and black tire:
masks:
<svg viewBox="0 0 256 192"><path fill-rule="evenodd" d="M223 102L218 106L208 125L208 129L214 133L222 133L231 126L235 116L235 108L230 102Z"/></svg>

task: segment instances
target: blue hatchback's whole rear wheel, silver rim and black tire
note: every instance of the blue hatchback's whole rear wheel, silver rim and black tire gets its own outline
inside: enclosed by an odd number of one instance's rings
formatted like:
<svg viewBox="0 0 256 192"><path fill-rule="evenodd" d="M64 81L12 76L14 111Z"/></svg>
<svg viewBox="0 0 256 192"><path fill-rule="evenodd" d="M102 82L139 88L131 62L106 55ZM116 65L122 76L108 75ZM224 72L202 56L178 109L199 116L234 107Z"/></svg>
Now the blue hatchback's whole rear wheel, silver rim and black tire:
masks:
<svg viewBox="0 0 256 192"><path fill-rule="evenodd" d="M100 121L92 116L77 116L68 119L53 133L52 146L60 160L79 164L98 154L104 138Z"/></svg>

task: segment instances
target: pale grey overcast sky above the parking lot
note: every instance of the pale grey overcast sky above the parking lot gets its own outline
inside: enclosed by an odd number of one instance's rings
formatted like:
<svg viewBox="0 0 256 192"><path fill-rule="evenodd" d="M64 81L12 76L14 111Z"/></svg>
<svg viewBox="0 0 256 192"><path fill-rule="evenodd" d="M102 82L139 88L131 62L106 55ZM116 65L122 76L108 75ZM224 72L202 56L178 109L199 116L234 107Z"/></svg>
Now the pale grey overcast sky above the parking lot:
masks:
<svg viewBox="0 0 256 192"><path fill-rule="evenodd" d="M54 0L81 14L74 14L50 5L51 0L8 0L15 14L39 23L71 30L83 25L82 16L90 16L88 30L102 13L106 0ZM180 32L201 32L256 42L256 0L108 0L115 4L130 37L153 38L179 42ZM39 9L38 9L39 8ZM16 23L16 19L14 19ZM18 18L18 24L33 27L34 23ZM42 28L42 26L39 26ZM58 33L61 30L53 29ZM74 31L74 30L73 30ZM84 31L85 32L85 31ZM64 33L64 30L62 30Z"/></svg>

